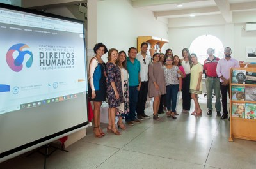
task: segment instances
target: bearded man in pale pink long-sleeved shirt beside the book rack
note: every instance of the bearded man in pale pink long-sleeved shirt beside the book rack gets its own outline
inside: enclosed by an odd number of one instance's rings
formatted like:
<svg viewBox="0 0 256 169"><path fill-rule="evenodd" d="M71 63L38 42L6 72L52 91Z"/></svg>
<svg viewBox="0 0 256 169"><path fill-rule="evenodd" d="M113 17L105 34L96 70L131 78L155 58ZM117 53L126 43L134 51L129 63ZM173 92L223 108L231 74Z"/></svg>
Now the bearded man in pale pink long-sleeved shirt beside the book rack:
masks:
<svg viewBox="0 0 256 169"><path fill-rule="evenodd" d="M227 93L229 93L229 78L230 78L230 68L239 68L239 62L231 57L231 48L226 47L224 50L225 58L220 59L217 64L217 75L220 78L220 91L222 95L222 108L223 115L221 119L228 118L228 108L227 108ZM229 96L229 95L228 95Z"/></svg>

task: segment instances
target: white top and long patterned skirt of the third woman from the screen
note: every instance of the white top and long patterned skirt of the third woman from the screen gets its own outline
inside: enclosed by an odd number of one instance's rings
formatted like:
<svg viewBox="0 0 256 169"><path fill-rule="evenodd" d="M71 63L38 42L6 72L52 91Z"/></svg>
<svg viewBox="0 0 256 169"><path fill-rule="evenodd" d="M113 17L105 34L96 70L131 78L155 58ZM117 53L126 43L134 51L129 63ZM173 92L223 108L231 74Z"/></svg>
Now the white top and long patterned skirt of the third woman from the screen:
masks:
<svg viewBox="0 0 256 169"><path fill-rule="evenodd" d="M116 108L116 115L125 117L125 114L130 112L129 109L129 85L128 85L128 72L124 68L121 68L121 80L122 80L122 89L124 96L124 103L121 103L119 107Z"/></svg>

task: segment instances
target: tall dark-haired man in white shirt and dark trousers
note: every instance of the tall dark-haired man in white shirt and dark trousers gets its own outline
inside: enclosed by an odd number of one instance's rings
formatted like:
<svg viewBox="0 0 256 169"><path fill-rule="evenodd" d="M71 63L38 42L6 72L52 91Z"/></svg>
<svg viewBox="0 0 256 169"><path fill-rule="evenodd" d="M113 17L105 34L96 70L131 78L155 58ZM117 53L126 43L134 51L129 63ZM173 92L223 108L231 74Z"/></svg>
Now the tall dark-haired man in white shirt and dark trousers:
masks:
<svg viewBox="0 0 256 169"><path fill-rule="evenodd" d="M145 114L145 104L148 97L148 64L151 62L150 55L147 54L148 43L141 43L141 52L138 52L136 59L140 61L140 78L141 78L141 87L138 96L137 103L137 118L143 120L150 119L148 115Z"/></svg>

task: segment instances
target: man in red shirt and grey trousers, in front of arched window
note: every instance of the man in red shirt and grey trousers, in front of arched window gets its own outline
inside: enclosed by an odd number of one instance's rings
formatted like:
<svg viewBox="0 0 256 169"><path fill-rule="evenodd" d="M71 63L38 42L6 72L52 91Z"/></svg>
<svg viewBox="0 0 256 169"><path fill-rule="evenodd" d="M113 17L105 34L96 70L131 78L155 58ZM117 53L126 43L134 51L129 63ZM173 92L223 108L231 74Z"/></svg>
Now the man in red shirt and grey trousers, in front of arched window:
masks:
<svg viewBox="0 0 256 169"><path fill-rule="evenodd" d="M207 54L209 57L204 61L204 70L207 77L205 78L206 91L207 91L207 108L208 115L212 114L212 91L216 96L215 108L218 116L221 116L221 103L220 103L220 79L217 76L216 68L218 61L220 60L218 57L215 57L213 48L207 49Z"/></svg>

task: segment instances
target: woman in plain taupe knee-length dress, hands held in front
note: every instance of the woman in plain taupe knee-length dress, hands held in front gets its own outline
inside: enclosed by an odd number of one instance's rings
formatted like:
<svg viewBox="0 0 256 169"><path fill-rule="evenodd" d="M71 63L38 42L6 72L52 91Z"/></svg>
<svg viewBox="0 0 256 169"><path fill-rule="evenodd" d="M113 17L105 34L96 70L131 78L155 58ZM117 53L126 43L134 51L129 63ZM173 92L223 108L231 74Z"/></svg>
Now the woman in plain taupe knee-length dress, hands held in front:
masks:
<svg viewBox="0 0 256 169"><path fill-rule="evenodd" d="M150 62L148 66L148 96L150 98L154 97L153 102L153 119L158 120L158 108L160 104L160 97L162 94L166 94L166 86L164 80L164 69L159 62L160 55L155 53L153 55L153 62Z"/></svg>

